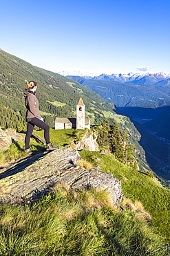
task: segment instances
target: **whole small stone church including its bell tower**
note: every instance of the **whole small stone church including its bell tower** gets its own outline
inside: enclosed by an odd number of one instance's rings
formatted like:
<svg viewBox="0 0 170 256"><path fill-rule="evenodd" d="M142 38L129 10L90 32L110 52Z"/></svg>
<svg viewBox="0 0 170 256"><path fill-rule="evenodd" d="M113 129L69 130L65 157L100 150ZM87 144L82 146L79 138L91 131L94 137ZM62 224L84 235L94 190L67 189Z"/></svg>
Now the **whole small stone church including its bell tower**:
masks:
<svg viewBox="0 0 170 256"><path fill-rule="evenodd" d="M55 129L90 129L90 120L85 118L85 104L82 98L76 105L76 118L56 118Z"/></svg>

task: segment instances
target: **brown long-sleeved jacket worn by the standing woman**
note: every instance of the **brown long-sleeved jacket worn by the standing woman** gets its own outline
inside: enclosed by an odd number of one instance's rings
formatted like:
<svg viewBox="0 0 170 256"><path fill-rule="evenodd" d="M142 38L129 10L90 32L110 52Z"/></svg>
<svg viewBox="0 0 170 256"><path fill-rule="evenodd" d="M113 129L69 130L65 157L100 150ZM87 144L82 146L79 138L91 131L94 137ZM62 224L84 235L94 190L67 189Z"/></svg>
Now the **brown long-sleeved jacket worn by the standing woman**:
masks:
<svg viewBox="0 0 170 256"><path fill-rule="evenodd" d="M23 95L25 97L25 106L27 108L25 116L26 121L30 121L31 118L41 119L39 113L39 101L37 100L35 93L33 91L25 89Z"/></svg>

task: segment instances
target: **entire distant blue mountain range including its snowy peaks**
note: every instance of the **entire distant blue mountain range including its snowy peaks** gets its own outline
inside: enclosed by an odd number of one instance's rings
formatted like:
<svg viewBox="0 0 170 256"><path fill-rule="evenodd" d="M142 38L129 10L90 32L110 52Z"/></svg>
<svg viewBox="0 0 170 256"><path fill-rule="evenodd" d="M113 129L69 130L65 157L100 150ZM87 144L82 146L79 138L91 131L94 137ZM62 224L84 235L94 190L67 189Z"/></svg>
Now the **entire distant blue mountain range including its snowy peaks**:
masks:
<svg viewBox="0 0 170 256"><path fill-rule="evenodd" d="M165 73L67 77L114 102L117 107L170 106L170 75Z"/></svg>

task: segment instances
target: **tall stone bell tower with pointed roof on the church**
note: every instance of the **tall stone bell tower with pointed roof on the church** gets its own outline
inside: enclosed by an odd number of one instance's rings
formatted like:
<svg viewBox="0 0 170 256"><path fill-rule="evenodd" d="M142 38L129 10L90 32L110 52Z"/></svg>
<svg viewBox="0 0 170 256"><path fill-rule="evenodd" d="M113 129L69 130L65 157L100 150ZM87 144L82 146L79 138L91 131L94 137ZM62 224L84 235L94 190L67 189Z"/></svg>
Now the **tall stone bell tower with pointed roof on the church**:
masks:
<svg viewBox="0 0 170 256"><path fill-rule="evenodd" d="M76 105L76 129L85 129L85 104L82 98Z"/></svg>

